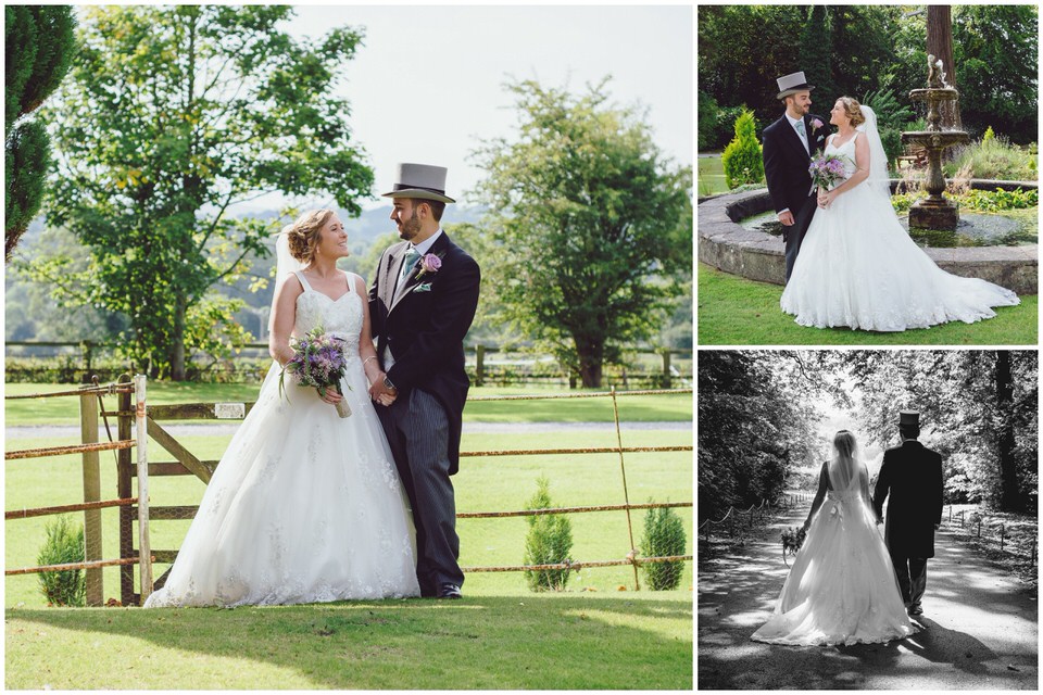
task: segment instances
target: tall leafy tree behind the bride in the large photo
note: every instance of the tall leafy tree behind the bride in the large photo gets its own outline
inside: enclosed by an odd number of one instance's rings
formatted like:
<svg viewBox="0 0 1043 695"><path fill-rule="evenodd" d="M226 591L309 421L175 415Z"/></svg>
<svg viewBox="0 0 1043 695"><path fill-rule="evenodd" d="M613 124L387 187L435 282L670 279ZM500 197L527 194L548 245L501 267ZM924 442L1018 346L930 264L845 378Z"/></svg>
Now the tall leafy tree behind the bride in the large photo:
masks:
<svg viewBox="0 0 1043 695"><path fill-rule="evenodd" d="M237 302L209 291L271 251L281 220L237 218L269 191L331 193L349 214L372 170L353 143L336 75L361 35L298 42L282 5L92 7L83 51L49 109L61 165L49 222L90 249L40 264L64 301L128 317L127 351L152 376L183 379L186 355L221 331L242 338ZM238 338L236 336L238 334Z"/></svg>

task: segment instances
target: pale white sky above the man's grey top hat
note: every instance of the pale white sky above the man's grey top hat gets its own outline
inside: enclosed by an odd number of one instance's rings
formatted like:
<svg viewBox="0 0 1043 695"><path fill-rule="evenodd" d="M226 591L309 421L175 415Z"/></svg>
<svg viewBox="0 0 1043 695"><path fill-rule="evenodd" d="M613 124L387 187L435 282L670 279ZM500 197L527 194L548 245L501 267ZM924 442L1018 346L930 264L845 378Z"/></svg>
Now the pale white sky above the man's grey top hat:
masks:
<svg viewBox="0 0 1043 695"><path fill-rule="evenodd" d="M480 140L512 138L510 76L579 91L606 75L618 104L640 102L656 144L693 161L693 12L690 5L299 5L288 29L319 37L364 27L344 65L349 121L369 155L375 194L398 162L449 167L447 193L463 204L481 172L467 161ZM407 99L406 96L412 99ZM325 201L319 201L325 202ZM386 204L384 199L364 207ZM273 207L266 197L257 207Z"/></svg>

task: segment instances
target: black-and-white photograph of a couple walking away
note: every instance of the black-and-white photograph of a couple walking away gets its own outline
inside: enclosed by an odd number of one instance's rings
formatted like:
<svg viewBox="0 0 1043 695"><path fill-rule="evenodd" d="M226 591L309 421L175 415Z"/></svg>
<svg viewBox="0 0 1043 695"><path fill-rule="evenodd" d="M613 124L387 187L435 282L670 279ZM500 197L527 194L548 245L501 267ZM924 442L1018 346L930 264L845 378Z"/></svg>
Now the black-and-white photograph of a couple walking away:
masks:
<svg viewBox="0 0 1043 695"><path fill-rule="evenodd" d="M698 359L700 690L1036 690L1039 353Z"/></svg>

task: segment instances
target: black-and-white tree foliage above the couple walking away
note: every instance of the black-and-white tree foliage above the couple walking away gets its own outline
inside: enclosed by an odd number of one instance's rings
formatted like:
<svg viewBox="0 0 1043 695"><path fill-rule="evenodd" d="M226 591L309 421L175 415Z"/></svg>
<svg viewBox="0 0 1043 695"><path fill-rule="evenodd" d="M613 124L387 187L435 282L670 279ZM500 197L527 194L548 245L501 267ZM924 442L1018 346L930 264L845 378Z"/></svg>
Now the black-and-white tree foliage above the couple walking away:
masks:
<svg viewBox="0 0 1043 695"><path fill-rule="evenodd" d="M1038 505L1035 351L702 351L700 516L775 501L813 481L828 455L826 414L863 451L900 443L897 413L920 413L921 439L943 456L948 503L1004 511Z"/></svg>

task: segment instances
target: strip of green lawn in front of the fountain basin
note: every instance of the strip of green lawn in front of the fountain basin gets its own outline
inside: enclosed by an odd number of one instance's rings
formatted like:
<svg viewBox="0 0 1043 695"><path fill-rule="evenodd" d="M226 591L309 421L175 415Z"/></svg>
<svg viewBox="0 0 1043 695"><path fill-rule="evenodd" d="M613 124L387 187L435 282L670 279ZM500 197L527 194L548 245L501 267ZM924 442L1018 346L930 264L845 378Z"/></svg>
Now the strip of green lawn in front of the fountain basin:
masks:
<svg viewBox="0 0 1043 695"><path fill-rule="evenodd" d="M782 286L699 264L700 345L1034 345L1039 296L996 309L977 324L951 323L901 333L799 326L779 307Z"/></svg>

